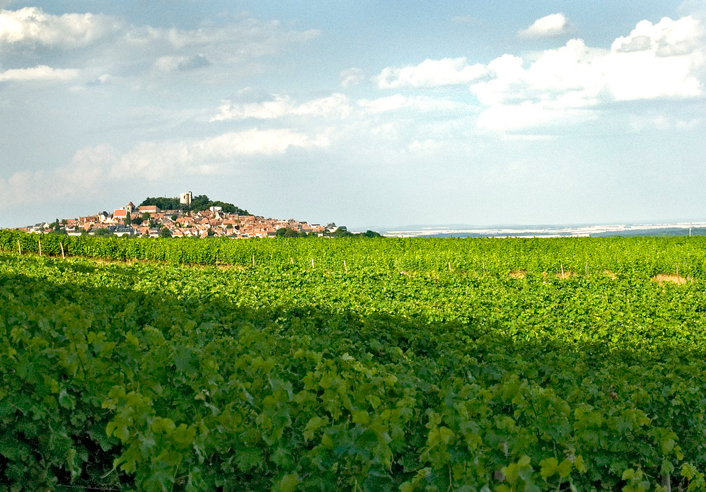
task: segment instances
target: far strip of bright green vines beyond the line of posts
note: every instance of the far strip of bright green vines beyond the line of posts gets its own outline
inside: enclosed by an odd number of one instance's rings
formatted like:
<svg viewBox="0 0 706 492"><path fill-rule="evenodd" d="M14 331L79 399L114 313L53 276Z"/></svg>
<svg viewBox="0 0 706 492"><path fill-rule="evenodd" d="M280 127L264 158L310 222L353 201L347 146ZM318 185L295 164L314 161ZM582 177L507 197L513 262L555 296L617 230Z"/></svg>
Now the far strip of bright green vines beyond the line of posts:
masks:
<svg viewBox="0 0 706 492"><path fill-rule="evenodd" d="M706 238L311 238L233 240L38 235L0 230L0 250L52 256L149 260L181 264L298 264L349 271L429 271L594 274L639 271L705 276Z"/></svg>

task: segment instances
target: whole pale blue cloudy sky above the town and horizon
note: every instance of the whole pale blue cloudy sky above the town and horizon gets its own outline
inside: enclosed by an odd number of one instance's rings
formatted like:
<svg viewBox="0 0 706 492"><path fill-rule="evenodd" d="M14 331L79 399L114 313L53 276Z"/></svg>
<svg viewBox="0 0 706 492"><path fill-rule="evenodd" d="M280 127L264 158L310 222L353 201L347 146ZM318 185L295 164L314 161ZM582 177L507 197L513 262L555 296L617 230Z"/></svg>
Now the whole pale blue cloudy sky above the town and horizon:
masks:
<svg viewBox="0 0 706 492"><path fill-rule="evenodd" d="M0 0L0 227L706 221L706 2Z"/></svg>

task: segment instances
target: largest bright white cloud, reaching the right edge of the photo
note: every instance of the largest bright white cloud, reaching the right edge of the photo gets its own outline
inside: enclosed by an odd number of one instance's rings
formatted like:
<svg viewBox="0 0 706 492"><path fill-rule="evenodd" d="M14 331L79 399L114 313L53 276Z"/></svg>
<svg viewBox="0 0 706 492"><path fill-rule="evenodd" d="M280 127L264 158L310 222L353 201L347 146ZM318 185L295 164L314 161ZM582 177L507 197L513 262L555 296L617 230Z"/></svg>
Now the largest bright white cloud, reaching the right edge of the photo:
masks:
<svg viewBox="0 0 706 492"><path fill-rule="evenodd" d="M702 25L695 18L642 21L610 50L569 40L527 64L504 55L470 90L487 107L478 124L516 131L591 119L591 108L627 100L695 98L706 67Z"/></svg>

